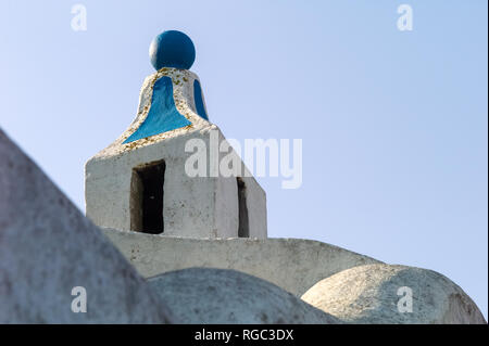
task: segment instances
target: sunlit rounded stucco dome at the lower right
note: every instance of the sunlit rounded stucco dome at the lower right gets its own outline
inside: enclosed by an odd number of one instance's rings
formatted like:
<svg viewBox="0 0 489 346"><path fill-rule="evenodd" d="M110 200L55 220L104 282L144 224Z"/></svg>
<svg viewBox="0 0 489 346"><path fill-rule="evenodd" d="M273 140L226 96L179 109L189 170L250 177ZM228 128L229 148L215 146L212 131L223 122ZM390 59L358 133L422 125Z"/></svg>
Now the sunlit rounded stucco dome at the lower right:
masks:
<svg viewBox="0 0 489 346"><path fill-rule="evenodd" d="M412 308L405 310L405 292ZM302 299L348 323L486 323L475 303L455 283L427 269L368 265L322 280ZM401 304L401 312L398 308Z"/></svg>

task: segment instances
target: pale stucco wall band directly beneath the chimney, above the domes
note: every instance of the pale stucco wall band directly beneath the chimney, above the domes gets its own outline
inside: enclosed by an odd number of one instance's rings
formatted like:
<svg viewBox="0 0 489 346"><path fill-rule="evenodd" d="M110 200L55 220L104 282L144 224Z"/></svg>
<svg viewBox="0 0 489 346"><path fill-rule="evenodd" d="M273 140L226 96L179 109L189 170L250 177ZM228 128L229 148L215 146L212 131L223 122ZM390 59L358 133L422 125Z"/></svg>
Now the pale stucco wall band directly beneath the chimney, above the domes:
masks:
<svg viewBox="0 0 489 346"><path fill-rule="evenodd" d="M104 229L146 278L191 268L235 269L301 296L341 270L379 262L347 249L299 239L186 239Z"/></svg>

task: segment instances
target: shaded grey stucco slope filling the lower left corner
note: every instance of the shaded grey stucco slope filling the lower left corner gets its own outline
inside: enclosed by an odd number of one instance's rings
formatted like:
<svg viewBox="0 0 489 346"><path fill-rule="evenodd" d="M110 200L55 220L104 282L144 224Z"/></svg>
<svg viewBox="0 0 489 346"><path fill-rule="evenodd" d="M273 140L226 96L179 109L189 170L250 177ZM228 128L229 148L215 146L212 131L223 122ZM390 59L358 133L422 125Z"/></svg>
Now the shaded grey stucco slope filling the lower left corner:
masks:
<svg viewBox="0 0 489 346"><path fill-rule="evenodd" d="M124 256L0 130L0 323L164 323ZM72 289L87 312L72 311Z"/></svg>

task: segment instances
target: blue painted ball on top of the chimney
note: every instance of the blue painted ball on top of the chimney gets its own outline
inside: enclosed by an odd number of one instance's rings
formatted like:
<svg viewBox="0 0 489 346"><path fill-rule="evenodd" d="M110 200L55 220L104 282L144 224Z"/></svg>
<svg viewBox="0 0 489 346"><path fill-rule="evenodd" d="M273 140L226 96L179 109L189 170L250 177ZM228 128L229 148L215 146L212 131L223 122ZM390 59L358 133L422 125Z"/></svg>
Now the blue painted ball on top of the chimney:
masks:
<svg viewBox="0 0 489 346"><path fill-rule="evenodd" d="M184 33L164 31L151 42L150 60L156 69L162 67L189 69L196 60L196 48L190 37Z"/></svg>

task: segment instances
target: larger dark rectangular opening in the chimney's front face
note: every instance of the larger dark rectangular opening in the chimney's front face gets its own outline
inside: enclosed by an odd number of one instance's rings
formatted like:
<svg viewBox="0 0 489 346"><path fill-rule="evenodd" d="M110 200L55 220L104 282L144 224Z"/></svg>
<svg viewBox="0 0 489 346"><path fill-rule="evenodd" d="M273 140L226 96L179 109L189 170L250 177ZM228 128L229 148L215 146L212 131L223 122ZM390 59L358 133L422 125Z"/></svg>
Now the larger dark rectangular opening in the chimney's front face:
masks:
<svg viewBox="0 0 489 346"><path fill-rule="evenodd" d="M163 222L163 161L133 169L130 179L130 229L137 232L161 234Z"/></svg>

